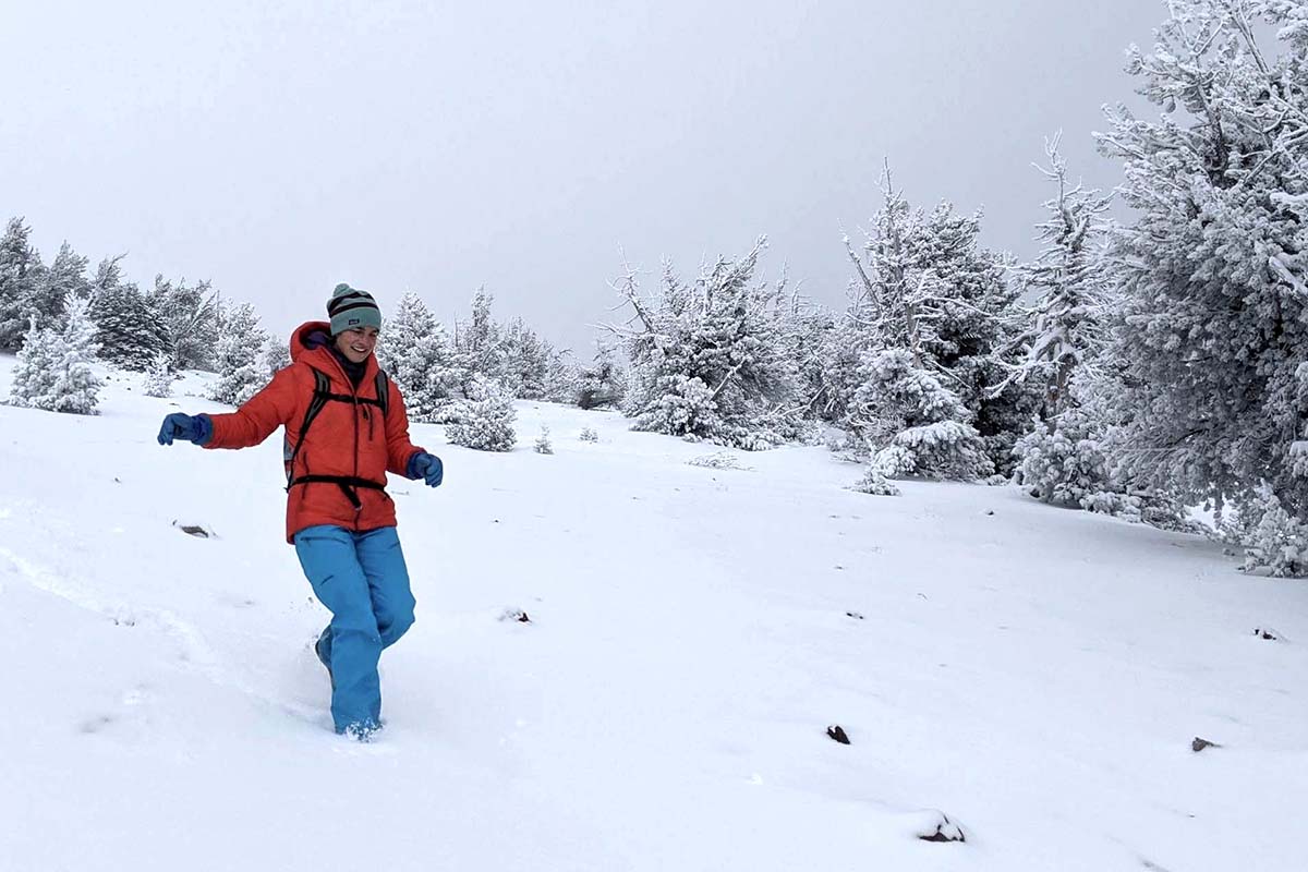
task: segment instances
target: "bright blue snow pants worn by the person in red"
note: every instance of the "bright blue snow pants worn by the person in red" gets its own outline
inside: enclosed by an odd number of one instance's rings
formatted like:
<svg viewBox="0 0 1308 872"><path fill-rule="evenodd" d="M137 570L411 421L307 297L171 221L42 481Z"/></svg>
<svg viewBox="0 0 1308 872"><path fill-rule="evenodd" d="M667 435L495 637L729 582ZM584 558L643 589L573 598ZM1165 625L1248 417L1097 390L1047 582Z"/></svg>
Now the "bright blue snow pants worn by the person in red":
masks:
<svg viewBox="0 0 1308 872"><path fill-rule="evenodd" d="M314 594L331 609L327 662L335 689L336 732L381 726L377 662L413 625L408 567L394 527L353 533L306 527L294 536L300 565Z"/></svg>

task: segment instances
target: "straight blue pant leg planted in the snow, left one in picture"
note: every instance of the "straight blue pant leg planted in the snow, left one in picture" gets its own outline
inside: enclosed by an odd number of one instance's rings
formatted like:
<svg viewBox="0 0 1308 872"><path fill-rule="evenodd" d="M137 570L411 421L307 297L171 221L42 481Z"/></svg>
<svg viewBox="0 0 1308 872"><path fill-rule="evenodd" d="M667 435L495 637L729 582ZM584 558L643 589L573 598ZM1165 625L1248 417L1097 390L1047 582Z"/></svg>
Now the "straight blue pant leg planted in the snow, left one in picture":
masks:
<svg viewBox="0 0 1308 872"><path fill-rule="evenodd" d="M332 613L328 658L336 685L331 698L336 732L378 724L382 637L354 536L340 527L309 527L296 533L296 554L314 594Z"/></svg>

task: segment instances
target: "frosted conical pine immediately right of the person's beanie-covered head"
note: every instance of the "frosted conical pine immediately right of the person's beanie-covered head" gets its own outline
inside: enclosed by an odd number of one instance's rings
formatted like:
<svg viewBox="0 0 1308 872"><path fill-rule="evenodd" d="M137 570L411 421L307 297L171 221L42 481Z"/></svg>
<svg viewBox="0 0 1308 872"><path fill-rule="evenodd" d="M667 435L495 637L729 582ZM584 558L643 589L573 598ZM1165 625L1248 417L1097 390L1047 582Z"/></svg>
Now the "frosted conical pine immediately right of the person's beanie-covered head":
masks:
<svg viewBox="0 0 1308 872"><path fill-rule="evenodd" d="M404 394L411 420L449 420L464 371L445 327L413 292L386 319L377 361Z"/></svg>

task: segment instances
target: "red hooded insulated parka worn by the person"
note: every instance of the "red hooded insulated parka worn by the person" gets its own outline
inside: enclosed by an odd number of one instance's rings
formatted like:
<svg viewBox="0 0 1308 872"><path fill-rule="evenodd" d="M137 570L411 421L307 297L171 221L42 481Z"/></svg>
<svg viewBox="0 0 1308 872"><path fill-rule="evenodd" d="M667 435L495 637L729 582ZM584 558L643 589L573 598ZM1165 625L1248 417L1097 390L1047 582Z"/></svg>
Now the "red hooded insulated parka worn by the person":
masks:
<svg viewBox="0 0 1308 872"><path fill-rule="evenodd" d="M383 490L386 473L405 475L409 459L422 451L409 442L399 388L386 379L387 399L377 395L375 356L369 356L354 388L328 345L310 345L315 332L327 335L331 327L327 322L300 327L290 336L290 366L235 412L209 416L213 438L204 446L247 448L279 426L286 428L288 543L318 524L354 532L394 527L395 503ZM305 429L311 408L317 412Z"/></svg>

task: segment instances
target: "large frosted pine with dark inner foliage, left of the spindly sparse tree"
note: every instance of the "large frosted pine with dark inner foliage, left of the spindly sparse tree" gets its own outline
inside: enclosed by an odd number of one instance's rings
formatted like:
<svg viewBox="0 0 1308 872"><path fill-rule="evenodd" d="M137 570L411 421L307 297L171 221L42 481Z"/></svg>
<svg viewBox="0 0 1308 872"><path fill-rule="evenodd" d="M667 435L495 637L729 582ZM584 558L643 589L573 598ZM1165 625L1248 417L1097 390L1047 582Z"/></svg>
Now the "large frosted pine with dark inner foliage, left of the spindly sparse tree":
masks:
<svg viewBox="0 0 1308 872"><path fill-rule="evenodd" d="M1003 354L1018 320L1005 259L978 244L978 216L959 216L948 203L914 212L888 171L883 192L862 252L845 238L855 277L845 322L825 345L825 408L852 433L855 454L862 443L874 451L888 447L892 428L929 424L930 433L948 431L957 444L954 459L930 460L938 468L926 475L974 477L986 465L1006 469L1031 404L1020 388L989 390L1003 380ZM922 417L906 395L884 401L875 396L893 384L901 386L895 391L930 396L933 411ZM976 437L989 464L972 460Z"/></svg>

